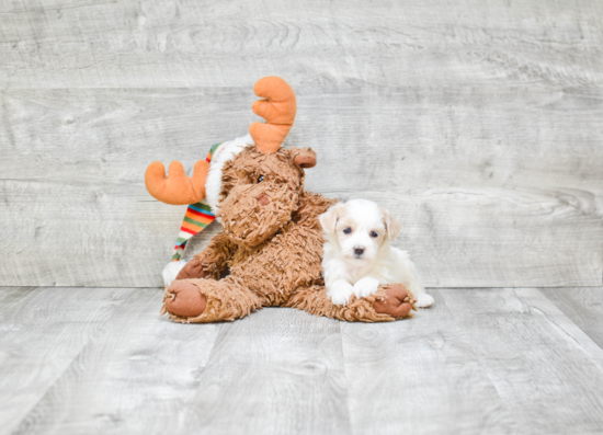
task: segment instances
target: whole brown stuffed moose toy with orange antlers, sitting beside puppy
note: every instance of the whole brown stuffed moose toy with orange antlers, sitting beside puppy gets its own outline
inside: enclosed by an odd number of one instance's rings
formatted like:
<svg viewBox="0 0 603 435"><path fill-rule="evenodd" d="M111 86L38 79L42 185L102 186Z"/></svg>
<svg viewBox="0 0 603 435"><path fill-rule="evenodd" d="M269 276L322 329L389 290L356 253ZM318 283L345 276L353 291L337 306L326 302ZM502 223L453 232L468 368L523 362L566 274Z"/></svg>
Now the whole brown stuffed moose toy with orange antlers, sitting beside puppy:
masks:
<svg viewBox="0 0 603 435"><path fill-rule="evenodd" d="M197 161L192 178L179 162L170 164L169 176L160 162L147 169L145 182L153 197L173 205L206 198L223 225L202 252L187 263L177 262L161 312L184 323L235 320L261 307L346 321L409 317L412 295L398 284L382 285L365 298L352 296L345 306L331 302L321 276L318 217L337 201L304 190L304 169L316 164L315 151L282 147L297 110L291 85L265 77L253 91L262 100L252 110L266 122L214 146L211 161Z"/></svg>

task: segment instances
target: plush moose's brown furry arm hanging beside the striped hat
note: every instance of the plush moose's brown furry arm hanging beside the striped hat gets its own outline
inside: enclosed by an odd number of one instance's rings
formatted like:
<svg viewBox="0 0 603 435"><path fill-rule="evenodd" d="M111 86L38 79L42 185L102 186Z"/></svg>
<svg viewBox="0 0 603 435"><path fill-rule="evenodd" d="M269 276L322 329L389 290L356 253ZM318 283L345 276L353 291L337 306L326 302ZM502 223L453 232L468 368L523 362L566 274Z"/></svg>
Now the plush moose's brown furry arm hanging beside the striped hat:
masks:
<svg viewBox="0 0 603 435"><path fill-rule="evenodd" d="M219 279L226 272L227 262L232 257L237 245L224 232L215 236L209 244L196 254L180 271L177 279L212 278Z"/></svg>

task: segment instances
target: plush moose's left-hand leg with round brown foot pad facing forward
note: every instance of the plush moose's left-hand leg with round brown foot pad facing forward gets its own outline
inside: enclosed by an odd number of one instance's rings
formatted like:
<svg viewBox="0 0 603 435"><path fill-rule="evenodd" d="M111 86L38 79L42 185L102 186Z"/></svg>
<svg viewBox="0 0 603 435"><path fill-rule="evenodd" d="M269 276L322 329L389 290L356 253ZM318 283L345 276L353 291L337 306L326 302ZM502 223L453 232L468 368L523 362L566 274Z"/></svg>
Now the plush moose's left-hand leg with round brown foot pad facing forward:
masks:
<svg viewBox="0 0 603 435"><path fill-rule="evenodd" d="M234 276L182 279L166 288L161 313L182 323L206 323L239 319L261 306L260 298Z"/></svg>

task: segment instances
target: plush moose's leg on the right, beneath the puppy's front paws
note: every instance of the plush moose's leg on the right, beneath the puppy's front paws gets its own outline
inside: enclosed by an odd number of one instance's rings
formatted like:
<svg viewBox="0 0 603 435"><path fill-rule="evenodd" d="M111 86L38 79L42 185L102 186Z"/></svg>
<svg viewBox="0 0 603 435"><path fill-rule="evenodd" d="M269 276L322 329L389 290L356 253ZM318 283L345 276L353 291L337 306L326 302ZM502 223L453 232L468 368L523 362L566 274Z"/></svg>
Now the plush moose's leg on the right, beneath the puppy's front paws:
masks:
<svg viewBox="0 0 603 435"><path fill-rule="evenodd" d="M297 289L286 307L350 322L388 322L411 317L414 299L400 284L385 284L373 295L364 298L352 295L346 305L339 306L333 305L323 286L311 286Z"/></svg>

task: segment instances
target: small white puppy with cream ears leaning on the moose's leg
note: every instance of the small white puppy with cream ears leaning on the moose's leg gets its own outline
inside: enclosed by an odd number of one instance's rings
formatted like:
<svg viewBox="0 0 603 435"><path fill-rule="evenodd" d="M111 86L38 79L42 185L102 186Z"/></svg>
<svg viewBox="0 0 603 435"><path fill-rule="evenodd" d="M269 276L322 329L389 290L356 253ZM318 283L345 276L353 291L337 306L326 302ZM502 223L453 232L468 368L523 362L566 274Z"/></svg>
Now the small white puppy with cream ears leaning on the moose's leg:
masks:
<svg viewBox="0 0 603 435"><path fill-rule="evenodd" d="M401 225L367 199L338 203L320 215L325 230L322 274L327 294L335 305L352 295L361 298L377 291L380 284L399 283L417 299L417 307L431 307L414 263L407 251L391 247Z"/></svg>

